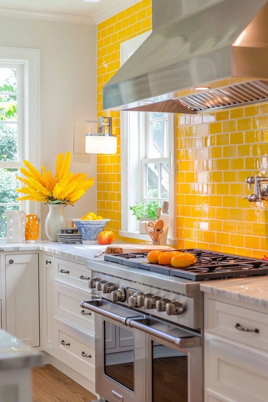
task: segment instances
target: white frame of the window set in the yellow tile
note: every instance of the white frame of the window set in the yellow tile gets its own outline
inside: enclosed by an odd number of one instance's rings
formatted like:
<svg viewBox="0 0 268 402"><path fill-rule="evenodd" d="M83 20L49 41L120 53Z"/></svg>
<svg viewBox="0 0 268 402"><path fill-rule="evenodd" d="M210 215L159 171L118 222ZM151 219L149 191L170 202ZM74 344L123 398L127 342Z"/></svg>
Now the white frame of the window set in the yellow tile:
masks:
<svg viewBox="0 0 268 402"><path fill-rule="evenodd" d="M121 66L127 61L131 54L147 39L151 31L147 31L137 37L121 43ZM123 237L135 238L139 240L149 240L147 234L140 234L138 230L130 231L135 216L131 215L129 206L134 201L141 201L143 197L143 189L138 180L135 181L135 187L130 187L130 178L135 175L141 177L143 159L142 150L145 149L144 138L141 138L141 132L146 129L146 118L139 112L121 112L121 230L119 235ZM176 203L175 188L176 175L174 171L176 139L174 135L174 127L176 127L176 115L170 113L168 119L168 162L169 162L169 234L168 244L177 244L176 239ZM137 134L138 133L138 134ZM137 155L136 158L130 158L130 155ZM166 158L164 158L167 162ZM152 159L149 159L151 161ZM144 162L144 159L143 159ZM131 223L132 221L132 223Z"/></svg>

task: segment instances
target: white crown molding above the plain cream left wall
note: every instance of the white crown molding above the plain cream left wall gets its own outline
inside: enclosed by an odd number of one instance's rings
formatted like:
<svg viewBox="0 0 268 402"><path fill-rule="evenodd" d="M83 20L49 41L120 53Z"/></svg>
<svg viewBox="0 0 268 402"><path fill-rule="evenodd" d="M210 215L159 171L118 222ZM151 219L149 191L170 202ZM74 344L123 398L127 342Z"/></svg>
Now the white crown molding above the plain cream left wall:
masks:
<svg viewBox="0 0 268 402"><path fill-rule="evenodd" d="M91 16L14 10L12 8L0 8L0 16L13 17L13 18L29 18L35 20L59 21L74 24L96 25L96 22Z"/></svg>

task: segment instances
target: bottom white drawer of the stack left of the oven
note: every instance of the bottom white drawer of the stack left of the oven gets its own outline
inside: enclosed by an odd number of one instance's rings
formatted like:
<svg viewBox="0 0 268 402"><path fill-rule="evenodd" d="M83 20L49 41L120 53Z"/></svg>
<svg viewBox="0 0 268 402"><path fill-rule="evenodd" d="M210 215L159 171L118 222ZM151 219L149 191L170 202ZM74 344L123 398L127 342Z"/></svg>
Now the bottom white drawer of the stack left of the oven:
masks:
<svg viewBox="0 0 268 402"><path fill-rule="evenodd" d="M64 343L67 345L63 345ZM95 377L94 338L85 332L55 319L54 351L92 377Z"/></svg>

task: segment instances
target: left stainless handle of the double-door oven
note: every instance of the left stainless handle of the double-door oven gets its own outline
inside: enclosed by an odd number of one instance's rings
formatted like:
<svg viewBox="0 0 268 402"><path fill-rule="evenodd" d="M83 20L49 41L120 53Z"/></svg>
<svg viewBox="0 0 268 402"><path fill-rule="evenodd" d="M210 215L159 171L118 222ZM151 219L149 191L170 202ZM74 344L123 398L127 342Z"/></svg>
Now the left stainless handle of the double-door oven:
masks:
<svg viewBox="0 0 268 402"><path fill-rule="evenodd" d="M92 300L81 301L80 306L126 326L129 326L131 318L135 318L136 320L145 318L144 314L139 314L129 310L129 308L117 306L115 303L110 303L99 298L93 299L92 297Z"/></svg>

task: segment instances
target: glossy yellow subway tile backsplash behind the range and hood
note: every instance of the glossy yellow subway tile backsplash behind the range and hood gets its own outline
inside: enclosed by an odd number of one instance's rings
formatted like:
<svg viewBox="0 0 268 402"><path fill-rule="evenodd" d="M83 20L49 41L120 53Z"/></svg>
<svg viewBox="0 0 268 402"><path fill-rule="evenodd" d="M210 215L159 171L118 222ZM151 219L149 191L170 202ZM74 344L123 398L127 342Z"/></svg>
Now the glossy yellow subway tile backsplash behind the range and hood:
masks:
<svg viewBox="0 0 268 402"><path fill-rule="evenodd" d="M120 67L120 44L148 29L151 0L142 0L98 25L98 116L103 113L102 88ZM108 226L118 239L137 243L119 236L120 112L110 116L118 146L116 155L97 156L98 213L111 219ZM264 155L268 155L268 103L176 117L178 247L199 246L258 258L268 253L267 206L260 209L242 199L250 193L245 178L260 174Z"/></svg>

